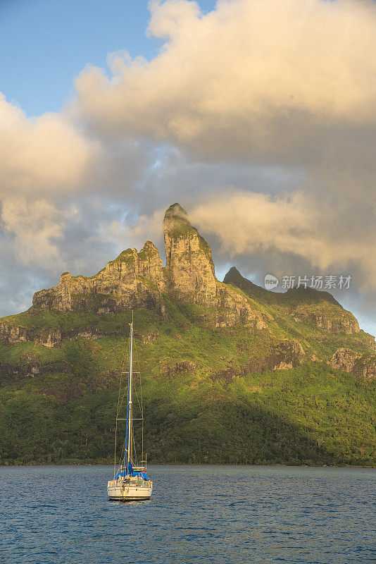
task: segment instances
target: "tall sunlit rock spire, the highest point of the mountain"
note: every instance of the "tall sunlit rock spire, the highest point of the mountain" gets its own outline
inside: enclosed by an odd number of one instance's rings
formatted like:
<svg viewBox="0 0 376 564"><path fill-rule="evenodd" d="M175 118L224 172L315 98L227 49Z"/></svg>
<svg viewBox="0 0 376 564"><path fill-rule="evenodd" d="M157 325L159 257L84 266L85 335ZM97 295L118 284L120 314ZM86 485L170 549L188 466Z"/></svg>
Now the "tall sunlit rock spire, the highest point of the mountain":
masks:
<svg viewBox="0 0 376 564"><path fill-rule="evenodd" d="M168 289L176 298L201 304L213 302L217 291L211 249L180 204L165 212L166 271Z"/></svg>

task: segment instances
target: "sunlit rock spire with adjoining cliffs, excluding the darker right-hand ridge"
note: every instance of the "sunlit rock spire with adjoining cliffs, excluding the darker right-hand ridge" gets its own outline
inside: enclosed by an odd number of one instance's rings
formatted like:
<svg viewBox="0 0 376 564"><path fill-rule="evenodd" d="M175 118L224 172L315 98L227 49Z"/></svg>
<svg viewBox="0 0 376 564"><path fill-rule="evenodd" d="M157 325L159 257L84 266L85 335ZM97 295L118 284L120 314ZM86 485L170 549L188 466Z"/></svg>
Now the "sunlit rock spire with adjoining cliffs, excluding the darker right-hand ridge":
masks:
<svg viewBox="0 0 376 564"><path fill-rule="evenodd" d="M165 269L156 246L146 241L141 251L123 250L94 276L63 273L57 286L35 293L33 306L107 314L142 305L163 315L167 293L175 300L209 307L202 319L211 326L241 323L249 331L267 328L268 315L250 304L244 293L215 278L211 249L180 204L165 212L163 230Z"/></svg>

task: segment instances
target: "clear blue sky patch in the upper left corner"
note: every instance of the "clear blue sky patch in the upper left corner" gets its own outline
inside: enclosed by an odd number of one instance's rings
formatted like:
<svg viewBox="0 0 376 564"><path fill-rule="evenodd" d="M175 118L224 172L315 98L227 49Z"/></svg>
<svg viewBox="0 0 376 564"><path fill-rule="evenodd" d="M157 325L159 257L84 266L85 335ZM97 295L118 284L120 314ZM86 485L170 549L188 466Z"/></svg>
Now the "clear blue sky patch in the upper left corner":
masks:
<svg viewBox="0 0 376 564"><path fill-rule="evenodd" d="M215 1L199 4L205 12ZM156 55L149 18L144 0L0 0L0 90L30 116L58 111L84 66L104 67L121 49Z"/></svg>

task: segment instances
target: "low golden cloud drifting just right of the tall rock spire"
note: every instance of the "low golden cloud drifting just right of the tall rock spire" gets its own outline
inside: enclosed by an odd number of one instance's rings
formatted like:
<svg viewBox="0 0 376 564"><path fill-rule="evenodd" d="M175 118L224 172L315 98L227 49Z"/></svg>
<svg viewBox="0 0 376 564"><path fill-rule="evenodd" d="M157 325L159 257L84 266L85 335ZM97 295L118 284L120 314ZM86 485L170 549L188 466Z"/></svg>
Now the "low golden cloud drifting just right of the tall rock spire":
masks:
<svg viewBox="0 0 376 564"><path fill-rule="evenodd" d="M325 203L299 192L270 197L233 191L206 198L192 209L191 218L203 233L218 238L227 257L272 252L321 272L330 267L361 271L363 290L375 291L374 225L361 226L340 204L334 214ZM363 210L363 221L366 215ZM375 219L372 212L370 219Z"/></svg>

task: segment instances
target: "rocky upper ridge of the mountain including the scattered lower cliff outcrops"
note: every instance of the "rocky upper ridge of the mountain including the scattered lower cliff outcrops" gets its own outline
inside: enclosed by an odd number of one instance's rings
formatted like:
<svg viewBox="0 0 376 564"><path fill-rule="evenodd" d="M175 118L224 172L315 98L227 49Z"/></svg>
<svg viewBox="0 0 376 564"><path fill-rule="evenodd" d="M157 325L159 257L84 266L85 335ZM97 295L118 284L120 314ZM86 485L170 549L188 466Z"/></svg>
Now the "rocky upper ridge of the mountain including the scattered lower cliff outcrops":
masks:
<svg viewBox="0 0 376 564"><path fill-rule="evenodd" d="M165 266L157 247L148 240L139 252L130 248L123 250L93 276L72 276L64 272L57 286L35 293L27 314L31 318L45 311L105 315L145 307L157 312L163 319L164 297L168 296L179 302L203 307L199 321L211 328L224 329L242 324L249 333L265 331L264 340L269 341L271 335L275 337L275 333L280 333L280 338L275 340L271 349L274 346L277 357L280 357L281 349L284 350L286 357L280 362L276 361L276 364L270 364L273 350L269 350L266 355L268 362L258 358L253 363L258 368L294 367L296 363L311 358L327 360L347 372L359 374L359 353L376 350L375 339L366 336L367 333L363 336L353 314L346 311L330 293L303 287L285 293L271 292L244 278L234 266L227 272L223 282L218 281L211 248L191 225L187 212L180 204L175 203L166 210L163 233ZM299 326L293 327L293 323L288 330L286 317L295 324L308 324L325 333L361 333L361 343L356 344L361 344L364 350L353 350L349 343L345 343L346 346L339 346L330 358L320 357L317 350L308 356L303 344L296 338ZM50 331L44 328L36 336L35 331L30 333L27 326L11 324L8 319L14 319L14 316L0 320L0 339L5 343L37 341L53 348L59 346L64 338L60 326ZM284 321L284 327L280 326L278 319ZM95 336L86 327L81 329L77 336ZM353 353L353 364L350 362L351 355L344 351ZM373 358L365 366L362 364L361 374L369 378L376 377Z"/></svg>

